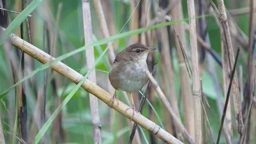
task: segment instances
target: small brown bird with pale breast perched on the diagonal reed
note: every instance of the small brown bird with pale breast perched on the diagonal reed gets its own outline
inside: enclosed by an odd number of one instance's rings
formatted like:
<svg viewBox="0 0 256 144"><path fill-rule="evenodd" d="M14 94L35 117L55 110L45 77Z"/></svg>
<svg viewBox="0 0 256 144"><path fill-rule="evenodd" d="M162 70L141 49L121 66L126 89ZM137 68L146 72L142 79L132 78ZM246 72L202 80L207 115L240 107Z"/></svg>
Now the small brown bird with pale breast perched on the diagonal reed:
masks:
<svg viewBox="0 0 256 144"><path fill-rule="evenodd" d="M156 48L148 48L143 44L137 43L128 46L126 49L122 50L122 52L118 53L108 74L111 85L116 90L129 92L132 99L132 93L138 92L148 81L148 78L144 73L144 69L148 68L146 59L148 57L148 52L155 49ZM116 98L116 90L111 98L112 105L115 99L119 104L119 101ZM135 114L133 99L130 108L134 110L132 115L133 118Z"/></svg>

